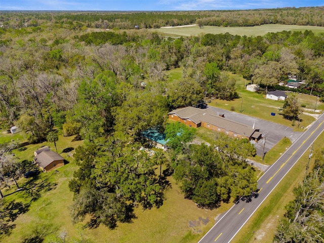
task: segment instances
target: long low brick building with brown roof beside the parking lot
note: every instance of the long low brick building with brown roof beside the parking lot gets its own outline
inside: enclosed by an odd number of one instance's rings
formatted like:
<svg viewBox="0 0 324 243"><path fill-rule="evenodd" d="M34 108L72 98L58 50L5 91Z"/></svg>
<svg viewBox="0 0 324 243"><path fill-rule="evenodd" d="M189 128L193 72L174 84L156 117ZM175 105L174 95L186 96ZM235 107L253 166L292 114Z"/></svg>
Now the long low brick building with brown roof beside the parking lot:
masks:
<svg viewBox="0 0 324 243"><path fill-rule="evenodd" d="M259 129L238 123L216 114L210 109L185 107L169 112L171 120L179 121L189 127L203 127L216 132L225 133L233 138L247 138L258 141L262 134Z"/></svg>

